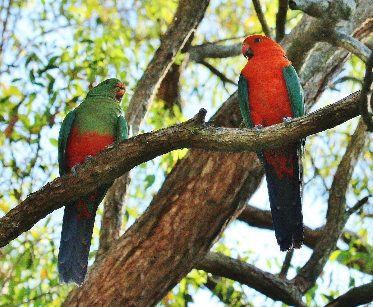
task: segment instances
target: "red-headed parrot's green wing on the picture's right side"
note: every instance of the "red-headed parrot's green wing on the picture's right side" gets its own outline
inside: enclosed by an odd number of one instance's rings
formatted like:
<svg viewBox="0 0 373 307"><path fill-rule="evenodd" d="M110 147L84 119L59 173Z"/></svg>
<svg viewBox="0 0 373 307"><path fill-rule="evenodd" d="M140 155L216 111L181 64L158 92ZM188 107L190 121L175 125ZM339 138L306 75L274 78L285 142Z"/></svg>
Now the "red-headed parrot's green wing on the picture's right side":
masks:
<svg viewBox="0 0 373 307"><path fill-rule="evenodd" d="M282 72L285 78L286 87L288 88L293 117L303 116L305 114L303 89L299 82L297 72L292 65L285 67ZM303 184L304 141L305 139L300 139L298 141L298 163L301 186Z"/></svg>

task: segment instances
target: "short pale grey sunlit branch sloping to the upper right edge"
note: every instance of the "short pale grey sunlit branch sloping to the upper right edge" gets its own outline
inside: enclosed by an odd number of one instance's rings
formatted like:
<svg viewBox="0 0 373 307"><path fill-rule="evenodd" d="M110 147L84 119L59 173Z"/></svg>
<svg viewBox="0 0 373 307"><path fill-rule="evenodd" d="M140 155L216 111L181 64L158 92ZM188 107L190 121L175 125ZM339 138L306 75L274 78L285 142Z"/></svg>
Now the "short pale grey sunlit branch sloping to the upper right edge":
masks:
<svg viewBox="0 0 373 307"><path fill-rule="evenodd" d="M345 48L360 58L364 63L367 63L372 53L361 41L339 30L333 31L333 34L329 38L329 42L335 46Z"/></svg>

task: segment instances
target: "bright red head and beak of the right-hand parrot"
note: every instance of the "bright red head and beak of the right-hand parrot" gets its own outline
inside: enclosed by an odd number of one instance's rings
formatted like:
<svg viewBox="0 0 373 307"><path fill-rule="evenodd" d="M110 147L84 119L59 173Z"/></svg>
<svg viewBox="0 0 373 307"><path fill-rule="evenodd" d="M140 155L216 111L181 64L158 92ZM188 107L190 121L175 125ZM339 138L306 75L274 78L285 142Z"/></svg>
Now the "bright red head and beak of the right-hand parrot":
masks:
<svg viewBox="0 0 373 307"><path fill-rule="evenodd" d="M271 50L276 51L276 53L280 52L285 56L285 52L279 44L263 35L252 35L242 42L242 54L249 60L255 55Z"/></svg>

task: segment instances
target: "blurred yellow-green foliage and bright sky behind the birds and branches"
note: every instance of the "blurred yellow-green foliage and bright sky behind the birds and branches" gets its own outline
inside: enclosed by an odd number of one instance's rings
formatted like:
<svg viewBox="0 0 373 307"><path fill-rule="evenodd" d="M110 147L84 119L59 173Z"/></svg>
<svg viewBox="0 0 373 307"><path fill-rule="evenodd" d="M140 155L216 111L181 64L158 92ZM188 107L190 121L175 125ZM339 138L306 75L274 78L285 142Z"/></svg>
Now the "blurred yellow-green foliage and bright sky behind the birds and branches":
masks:
<svg viewBox="0 0 373 307"><path fill-rule="evenodd" d="M263 3L267 22L273 28L276 7L271 1ZM177 4L166 0L12 0L1 6L0 216L58 175L56 146L60 123L97 82L107 77L118 77L125 82L129 89L123 101L126 109L137 80L159 46ZM292 28L301 15L288 12L287 17L287 26ZM225 40L222 44L229 45L248 34L260 32L251 2L216 0L211 2L192 44ZM180 54L176 62L181 64L183 60L184 55ZM244 59L209 59L209 64L237 81ZM353 57L346 72L361 78L362 67L361 61ZM358 87L355 83L347 83L347 86L351 91ZM338 89L338 85L336 87ZM163 101L155 101L143 129L151 131L179 123L200 107L213 114L235 89L232 84L223 84L206 67L188 63L181 79L184 108L180 110L174 105L171 112ZM331 101L338 97L333 93L329 92L333 97ZM325 98L318 107L323 101ZM313 208L317 211L325 211L333 174L355 126L356 121L351 121L307 139L305 194L315 195L312 202L316 203ZM370 141L351 182L350 206L373 190L372 151ZM125 213L126 228L144 211L164 177L185 153L185 150L174 151L133 170ZM98 214L101 213L99 209ZM372 272L372 257L359 250L363 248L368 254L373 253L373 230L369 222L372 215L372 206L366 205L353 216L348 225L358 237L335 251L331 263L352 267L353 272ZM54 212L0 250L1 306L59 306L62 303L72 287L61 287L56 273L61 222L62 212ZM92 260L98 246L97 228L93 237ZM263 261L259 261L259 255L251 247L232 243L231 239L219 240L213 250L234 256L248 255L241 259L258 262L263 269L273 272L281 266L278 254L261 255ZM364 268L354 261L362 258ZM361 284L362 279L360 273L352 273L348 287ZM211 281L214 287L210 289ZM336 280L331 278L330 281ZM311 306L321 306L344 292L343 287L339 291L337 284L329 291L320 281L308 291L305 300ZM189 273L159 305L186 306L194 301L201 288L210 289L210 295L220 299L219 306L254 306L253 302L258 301L261 306L279 306L270 300L263 302L263 297L258 300L257 294L235 281L197 270Z"/></svg>

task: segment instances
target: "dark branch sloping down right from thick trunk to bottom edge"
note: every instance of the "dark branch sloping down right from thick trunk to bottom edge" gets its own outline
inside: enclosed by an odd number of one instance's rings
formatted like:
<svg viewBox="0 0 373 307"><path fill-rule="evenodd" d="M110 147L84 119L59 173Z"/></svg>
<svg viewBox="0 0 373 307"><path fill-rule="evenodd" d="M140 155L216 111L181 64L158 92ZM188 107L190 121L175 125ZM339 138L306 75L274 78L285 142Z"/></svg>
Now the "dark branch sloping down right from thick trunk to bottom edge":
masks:
<svg viewBox="0 0 373 307"><path fill-rule="evenodd" d="M209 252L203 261L197 265L197 269L248 285L250 288L272 298L272 300L279 300L291 306L307 306L302 301L302 295L291 282L264 272L241 260Z"/></svg>

